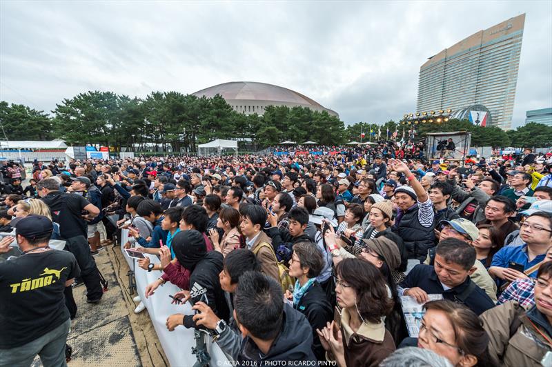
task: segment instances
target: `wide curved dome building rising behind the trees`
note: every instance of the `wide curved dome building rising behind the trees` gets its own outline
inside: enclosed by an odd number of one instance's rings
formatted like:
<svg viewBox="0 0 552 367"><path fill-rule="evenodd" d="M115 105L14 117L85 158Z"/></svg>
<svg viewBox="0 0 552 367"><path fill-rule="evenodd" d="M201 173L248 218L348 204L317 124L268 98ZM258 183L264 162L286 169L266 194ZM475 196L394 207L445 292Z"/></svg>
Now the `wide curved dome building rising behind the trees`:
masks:
<svg viewBox="0 0 552 367"><path fill-rule="evenodd" d="M222 83L193 93L197 97L208 98L217 94L221 95L233 110L246 115L252 113L263 115L266 106L288 106L289 108L299 106L319 112L326 111L332 116L339 117L337 112L325 108L301 93L255 81L230 81L230 83Z"/></svg>

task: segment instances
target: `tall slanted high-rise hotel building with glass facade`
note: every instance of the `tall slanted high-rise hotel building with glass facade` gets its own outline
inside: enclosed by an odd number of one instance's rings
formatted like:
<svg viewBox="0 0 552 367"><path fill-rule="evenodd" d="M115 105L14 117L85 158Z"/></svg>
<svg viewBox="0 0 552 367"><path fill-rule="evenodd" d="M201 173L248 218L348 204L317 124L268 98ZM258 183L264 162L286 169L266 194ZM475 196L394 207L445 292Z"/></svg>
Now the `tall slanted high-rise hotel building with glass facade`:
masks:
<svg viewBox="0 0 552 367"><path fill-rule="evenodd" d="M518 15L430 57L420 68L417 112L483 105L491 126L509 130L524 23Z"/></svg>

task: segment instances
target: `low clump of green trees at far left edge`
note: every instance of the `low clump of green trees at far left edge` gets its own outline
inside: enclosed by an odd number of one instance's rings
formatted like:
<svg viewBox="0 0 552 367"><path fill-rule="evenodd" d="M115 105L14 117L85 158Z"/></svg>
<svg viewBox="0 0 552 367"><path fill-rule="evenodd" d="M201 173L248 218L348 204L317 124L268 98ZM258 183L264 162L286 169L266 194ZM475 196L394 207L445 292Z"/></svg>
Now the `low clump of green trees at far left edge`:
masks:
<svg viewBox="0 0 552 367"><path fill-rule="evenodd" d="M0 101L0 124L8 140L51 140L52 121L43 111Z"/></svg>

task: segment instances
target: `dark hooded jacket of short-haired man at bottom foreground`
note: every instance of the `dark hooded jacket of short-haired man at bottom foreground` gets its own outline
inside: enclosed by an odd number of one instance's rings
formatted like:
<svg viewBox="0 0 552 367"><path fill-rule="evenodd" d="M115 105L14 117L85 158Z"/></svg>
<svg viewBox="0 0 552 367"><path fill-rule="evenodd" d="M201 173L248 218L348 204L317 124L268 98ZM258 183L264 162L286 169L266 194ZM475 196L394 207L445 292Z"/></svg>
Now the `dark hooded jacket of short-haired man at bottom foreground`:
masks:
<svg viewBox="0 0 552 367"><path fill-rule="evenodd" d="M288 304L284 304L284 315L280 333L273 341L266 355L250 337L245 337L237 361L255 361L255 366L271 366L264 361L313 361L317 359L312 350L313 333L307 319ZM261 357L262 356L262 357ZM242 363L240 363L243 365ZM313 364L315 366L316 364Z"/></svg>

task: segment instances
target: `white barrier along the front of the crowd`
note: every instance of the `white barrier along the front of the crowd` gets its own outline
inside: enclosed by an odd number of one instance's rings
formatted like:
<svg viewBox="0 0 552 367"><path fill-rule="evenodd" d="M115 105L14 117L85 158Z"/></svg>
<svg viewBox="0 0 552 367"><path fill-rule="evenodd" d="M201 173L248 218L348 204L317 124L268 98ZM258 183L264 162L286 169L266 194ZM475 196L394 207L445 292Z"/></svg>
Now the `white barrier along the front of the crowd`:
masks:
<svg viewBox="0 0 552 367"><path fill-rule="evenodd" d="M135 272L136 288L142 302L146 305L148 313L155 328L155 333L161 341L161 346L168 358L170 366L193 366L196 361L195 355L192 354L192 348L195 347L194 330L184 328L184 326L178 326L174 331L168 331L166 327L166 320L169 315L175 313L181 313L184 315L193 315L192 307L189 303L176 305L171 304L172 299L169 295L174 295L180 290L174 284L167 282L164 286L160 286L155 290L155 294L146 299L144 291L146 286L155 279L161 277L162 272L159 270L144 270L137 264L137 259L128 257L126 251L123 249L124 244L128 240L128 230L121 230L121 251L128 262L128 266ZM155 255L144 254L149 257L150 262L158 264L159 259ZM217 346L212 342L211 337L205 337L207 350L211 357L210 366L230 366L228 358ZM218 362L218 363L217 363Z"/></svg>

